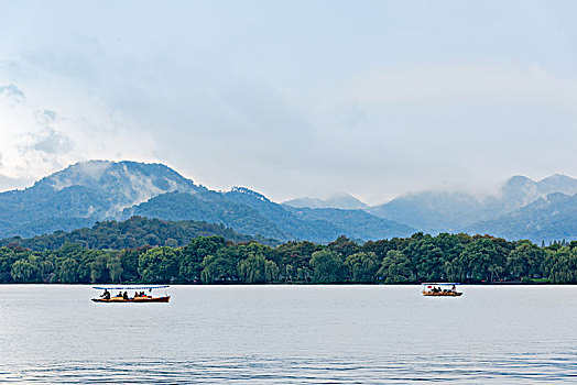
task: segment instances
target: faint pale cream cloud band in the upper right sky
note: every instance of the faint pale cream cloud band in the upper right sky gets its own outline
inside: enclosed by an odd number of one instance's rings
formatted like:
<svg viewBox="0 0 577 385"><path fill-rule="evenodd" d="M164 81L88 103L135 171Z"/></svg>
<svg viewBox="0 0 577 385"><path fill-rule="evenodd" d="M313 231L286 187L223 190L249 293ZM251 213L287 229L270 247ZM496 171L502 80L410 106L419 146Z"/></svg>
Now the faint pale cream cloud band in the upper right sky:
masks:
<svg viewBox="0 0 577 385"><path fill-rule="evenodd" d="M538 65L439 63L391 67L366 74L333 95L363 105L424 101L504 101L577 107L577 79L559 78Z"/></svg>

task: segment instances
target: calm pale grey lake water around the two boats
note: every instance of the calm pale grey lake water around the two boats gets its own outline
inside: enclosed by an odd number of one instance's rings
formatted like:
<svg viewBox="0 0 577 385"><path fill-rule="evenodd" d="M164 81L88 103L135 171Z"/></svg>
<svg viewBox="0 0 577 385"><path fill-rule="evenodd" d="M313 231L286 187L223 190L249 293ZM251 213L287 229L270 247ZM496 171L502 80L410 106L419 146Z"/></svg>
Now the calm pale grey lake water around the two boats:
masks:
<svg viewBox="0 0 577 385"><path fill-rule="evenodd" d="M95 304L90 286L0 285L0 382L577 382L576 286L173 286Z"/></svg>

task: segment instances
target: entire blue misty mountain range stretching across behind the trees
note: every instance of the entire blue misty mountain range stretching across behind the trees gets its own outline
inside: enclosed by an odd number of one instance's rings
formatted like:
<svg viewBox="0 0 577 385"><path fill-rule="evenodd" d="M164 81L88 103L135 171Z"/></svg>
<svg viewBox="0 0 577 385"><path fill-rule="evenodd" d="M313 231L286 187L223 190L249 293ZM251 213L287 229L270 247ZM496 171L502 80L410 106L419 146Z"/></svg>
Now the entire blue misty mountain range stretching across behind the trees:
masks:
<svg viewBox="0 0 577 385"><path fill-rule="evenodd" d="M372 207L345 194L276 204L246 187L210 190L162 164L90 161L23 190L0 193L0 238L70 231L133 216L204 221L280 241L375 240L417 231L569 240L577 230L577 179L513 176L493 194L425 190Z"/></svg>

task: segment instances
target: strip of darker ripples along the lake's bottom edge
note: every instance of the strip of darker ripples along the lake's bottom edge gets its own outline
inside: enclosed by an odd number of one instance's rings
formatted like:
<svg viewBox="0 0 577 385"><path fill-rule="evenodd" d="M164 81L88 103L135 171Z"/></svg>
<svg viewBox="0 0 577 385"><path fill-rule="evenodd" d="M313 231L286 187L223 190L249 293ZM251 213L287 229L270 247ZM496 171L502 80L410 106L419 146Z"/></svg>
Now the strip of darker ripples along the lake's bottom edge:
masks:
<svg viewBox="0 0 577 385"><path fill-rule="evenodd" d="M31 384L394 384L571 383L574 355L370 358L205 358L195 361L80 361L0 365L0 382Z"/></svg>

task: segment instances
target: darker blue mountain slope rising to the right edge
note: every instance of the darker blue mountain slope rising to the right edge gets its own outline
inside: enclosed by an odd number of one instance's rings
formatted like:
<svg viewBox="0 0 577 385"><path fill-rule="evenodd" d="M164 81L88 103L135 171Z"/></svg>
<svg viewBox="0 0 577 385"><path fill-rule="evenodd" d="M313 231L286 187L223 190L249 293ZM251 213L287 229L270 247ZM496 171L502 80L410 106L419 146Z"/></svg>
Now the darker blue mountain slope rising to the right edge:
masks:
<svg viewBox="0 0 577 385"><path fill-rule="evenodd" d="M466 231L537 243L577 240L577 195L551 194L498 219L473 223Z"/></svg>

